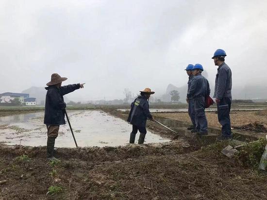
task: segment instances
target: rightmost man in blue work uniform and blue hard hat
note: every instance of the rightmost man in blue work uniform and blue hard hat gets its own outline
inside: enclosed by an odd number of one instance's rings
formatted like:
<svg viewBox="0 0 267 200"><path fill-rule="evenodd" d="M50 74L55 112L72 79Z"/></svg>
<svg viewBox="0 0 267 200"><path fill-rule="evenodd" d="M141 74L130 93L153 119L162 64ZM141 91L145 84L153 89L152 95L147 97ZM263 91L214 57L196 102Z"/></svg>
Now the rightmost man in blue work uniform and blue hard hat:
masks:
<svg viewBox="0 0 267 200"><path fill-rule="evenodd" d="M221 136L217 138L218 141L232 139L230 119L232 104L232 71L224 62L225 56L225 51L218 49L212 57L214 64L218 66L213 96L216 98L218 120L222 126Z"/></svg>

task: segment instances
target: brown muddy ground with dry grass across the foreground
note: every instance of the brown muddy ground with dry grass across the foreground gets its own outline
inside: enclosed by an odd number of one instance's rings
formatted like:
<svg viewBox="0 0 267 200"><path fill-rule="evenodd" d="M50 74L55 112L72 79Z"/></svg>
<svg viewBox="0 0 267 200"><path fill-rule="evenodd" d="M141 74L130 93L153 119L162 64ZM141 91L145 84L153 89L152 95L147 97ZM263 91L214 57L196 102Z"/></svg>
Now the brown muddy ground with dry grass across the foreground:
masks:
<svg viewBox="0 0 267 200"><path fill-rule="evenodd" d="M105 111L127 117L125 112ZM155 123L148 126L173 136ZM248 145L234 159L220 152L227 142L209 144L197 137L141 146L59 148L59 163L45 159L45 147L2 144L0 200L267 199L267 173L257 170L265 144Z"/></svg>

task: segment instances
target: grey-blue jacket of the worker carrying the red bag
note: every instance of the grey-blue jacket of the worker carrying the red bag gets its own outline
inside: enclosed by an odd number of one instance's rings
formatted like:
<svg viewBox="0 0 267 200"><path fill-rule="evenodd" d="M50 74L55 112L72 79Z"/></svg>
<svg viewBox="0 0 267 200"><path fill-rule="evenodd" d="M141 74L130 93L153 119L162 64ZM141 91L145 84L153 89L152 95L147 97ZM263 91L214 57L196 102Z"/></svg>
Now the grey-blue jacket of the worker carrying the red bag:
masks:
<svg viewBox="0 0 267 200"><path fill-rule="evenodd" d="M202 99L208 95L210 95L210 84L208 80L201 74L196 75L190 83L187 98Z"/></svg>

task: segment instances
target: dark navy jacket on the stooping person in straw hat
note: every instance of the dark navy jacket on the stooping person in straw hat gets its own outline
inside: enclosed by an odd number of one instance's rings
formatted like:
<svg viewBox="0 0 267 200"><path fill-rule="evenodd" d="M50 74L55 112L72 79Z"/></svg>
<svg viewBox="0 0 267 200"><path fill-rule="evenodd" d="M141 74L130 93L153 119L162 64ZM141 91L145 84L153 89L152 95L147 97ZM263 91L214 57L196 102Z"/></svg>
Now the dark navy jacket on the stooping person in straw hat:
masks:
<svg viewBox="0 0 267 200"><path fill-rule="evenodd" d="M138 127L146 127L148 118L152 118L149 111L149 102L145 96L138 96L131 104L127 121Z"/></svg>

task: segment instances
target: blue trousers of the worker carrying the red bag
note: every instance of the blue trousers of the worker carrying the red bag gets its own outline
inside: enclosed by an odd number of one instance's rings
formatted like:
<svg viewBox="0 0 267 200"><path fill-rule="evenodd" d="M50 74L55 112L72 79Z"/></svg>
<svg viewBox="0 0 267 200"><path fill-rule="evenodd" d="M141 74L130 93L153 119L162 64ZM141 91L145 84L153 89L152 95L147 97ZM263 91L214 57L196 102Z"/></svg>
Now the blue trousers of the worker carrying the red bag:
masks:
<svg viewBox="0 0 267 200"><path fill-rule="evenodd" d="M200 133L207 133L208 131L208 122L205 115L204 105L205 105L204 97L194 99L196 129Z"/></svg>

